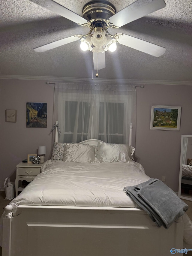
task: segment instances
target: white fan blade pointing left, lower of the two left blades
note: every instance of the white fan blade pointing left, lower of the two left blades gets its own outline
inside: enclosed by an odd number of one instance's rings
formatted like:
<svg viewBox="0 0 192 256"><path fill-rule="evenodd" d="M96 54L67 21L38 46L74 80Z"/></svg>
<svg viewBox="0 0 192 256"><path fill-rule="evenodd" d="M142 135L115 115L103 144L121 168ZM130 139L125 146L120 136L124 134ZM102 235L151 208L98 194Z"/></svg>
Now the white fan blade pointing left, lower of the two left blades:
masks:
<svg viewBox="0 0 192 256"><path fill-rule="evenodd" d="M79 40L79 37L73 35L73 36L70 36L70 37L67 37L67 38L60 39L58 41L54 41L54 42L49 43L49 44L42 45L40 47L34 48L33 50L36 51L36 52L43 53L43 52L46 52L48 50L59 47L61 45L69 44L69 43L77 41L77 40Z"/></svg>

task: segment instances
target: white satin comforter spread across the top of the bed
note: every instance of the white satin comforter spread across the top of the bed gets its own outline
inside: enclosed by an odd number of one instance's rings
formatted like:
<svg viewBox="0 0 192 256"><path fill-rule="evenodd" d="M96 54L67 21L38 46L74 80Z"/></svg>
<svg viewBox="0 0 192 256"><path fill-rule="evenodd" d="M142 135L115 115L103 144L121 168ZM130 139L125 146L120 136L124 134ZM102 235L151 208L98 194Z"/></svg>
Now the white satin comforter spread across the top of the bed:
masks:
<svg viewBox="0 0 192 256"><path fill-rule="evenodd" d="M39 174L11 202L13 216L17 206L106 206L135 207L123 191L125 186L149 180L141 164L65 163L46 161Z"/></svg>

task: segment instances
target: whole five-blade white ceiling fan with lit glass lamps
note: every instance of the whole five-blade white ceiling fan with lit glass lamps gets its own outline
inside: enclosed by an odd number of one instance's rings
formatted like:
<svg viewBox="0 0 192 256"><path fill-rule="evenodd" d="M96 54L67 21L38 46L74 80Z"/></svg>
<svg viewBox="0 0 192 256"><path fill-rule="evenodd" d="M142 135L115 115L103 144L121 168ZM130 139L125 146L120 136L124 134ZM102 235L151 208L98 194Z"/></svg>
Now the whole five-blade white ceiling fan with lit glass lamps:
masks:
<svg viewBox="0 0 192 256"><path fill-rule="evenodd" d="M82 50L93 52L94 69L98 70L105 68L105 52L116 50L116 43L155 57L163 55L166 51L164 47L129 35L122 33L111 35L107 30L108 28L120 28L127 23L164 8L166 6L164 0L137 0L117 13L115 7L108 1L91 1L83 7L82 17L53 0L30 1L90 29L86 35L74 35L37 47L34 49L36 52L45 52L80 40ZM98 77L98 72L96 77Z"/></svg>

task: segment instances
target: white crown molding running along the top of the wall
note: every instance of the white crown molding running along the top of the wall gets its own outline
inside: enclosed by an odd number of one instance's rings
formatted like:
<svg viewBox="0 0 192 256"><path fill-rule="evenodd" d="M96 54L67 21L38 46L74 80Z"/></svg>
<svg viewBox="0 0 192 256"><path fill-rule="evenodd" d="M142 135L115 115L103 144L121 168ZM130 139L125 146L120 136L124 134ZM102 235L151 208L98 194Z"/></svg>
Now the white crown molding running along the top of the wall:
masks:
<svg viewBox="0 0 192 256"><path fill-rule="evenodd" d="M47 80L49 83L54 82L102 82L102 83L124 83L124 84L154 84L154 85L192 85L190 81L166 81L166 80L131 80L131 79L101 79L95 78L72 78L72 77L41 77L41 76L17 76L17 75L0 75L0 79L19 79L19 80Z"/></svg>

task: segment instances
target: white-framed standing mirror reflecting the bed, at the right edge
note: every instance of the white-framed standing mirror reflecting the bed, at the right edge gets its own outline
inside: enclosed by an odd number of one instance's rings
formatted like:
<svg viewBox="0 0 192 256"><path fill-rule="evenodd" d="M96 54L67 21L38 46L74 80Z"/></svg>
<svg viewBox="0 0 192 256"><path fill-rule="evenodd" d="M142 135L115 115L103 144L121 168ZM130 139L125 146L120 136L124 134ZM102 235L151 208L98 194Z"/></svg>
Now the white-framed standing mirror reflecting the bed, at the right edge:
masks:
<svg viewBox="0 0 192 256"><path fill-rule="evenodd" d="M192 135L182 135L179 197L192 201Z"/></svg>

